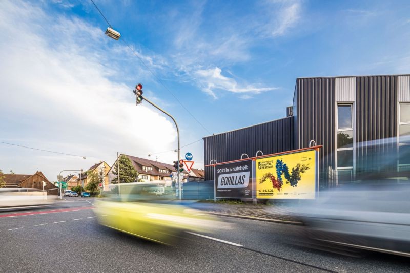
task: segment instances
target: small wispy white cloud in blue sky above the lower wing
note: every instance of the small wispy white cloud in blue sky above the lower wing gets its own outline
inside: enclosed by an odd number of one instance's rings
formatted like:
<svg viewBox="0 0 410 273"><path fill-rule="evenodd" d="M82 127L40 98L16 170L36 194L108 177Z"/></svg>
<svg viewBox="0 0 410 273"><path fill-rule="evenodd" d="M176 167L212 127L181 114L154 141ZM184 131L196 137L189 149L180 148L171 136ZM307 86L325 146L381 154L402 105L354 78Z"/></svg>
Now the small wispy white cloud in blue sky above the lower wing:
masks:
<svg viewBox="0 0 410 273"><path fill-rule="evenodd" d="M259 94L265 91L276 90L276 87L260 87L260 85L240 85L234 78L226 77L222 75L222 70L219 67L197 70L195 72L199 86L202 91L208 93L213 98L217 98L216 93L218 90L229 91L232 93L247 93L241 94L241 98L247 99L251 96L249 94Z"/></svg>

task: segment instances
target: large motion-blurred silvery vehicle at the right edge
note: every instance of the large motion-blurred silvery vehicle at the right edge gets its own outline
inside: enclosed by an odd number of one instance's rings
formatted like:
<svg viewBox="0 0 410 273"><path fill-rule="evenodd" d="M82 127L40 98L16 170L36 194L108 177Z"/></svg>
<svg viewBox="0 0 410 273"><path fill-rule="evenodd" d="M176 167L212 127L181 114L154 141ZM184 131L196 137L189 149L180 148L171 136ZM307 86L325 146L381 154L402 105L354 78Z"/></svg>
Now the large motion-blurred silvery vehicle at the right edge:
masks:
<svg viewBox="0 0 410 273"><path fill-rule="evenodd" d="M369 152L357 158L354 179L320 192L301 208L302 221L315 240L410 257L410 150L395 139L357 146Z"/></svg>

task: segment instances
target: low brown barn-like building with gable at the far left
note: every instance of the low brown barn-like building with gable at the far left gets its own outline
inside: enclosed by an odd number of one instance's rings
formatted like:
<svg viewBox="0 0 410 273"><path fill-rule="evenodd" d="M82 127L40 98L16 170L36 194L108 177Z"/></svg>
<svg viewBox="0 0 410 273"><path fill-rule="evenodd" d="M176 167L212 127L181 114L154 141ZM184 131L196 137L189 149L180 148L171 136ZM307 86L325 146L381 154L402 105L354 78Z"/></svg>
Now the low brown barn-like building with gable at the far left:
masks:
<svg viewBox="0 0 410 273"><path fill-rule="evenodd" d="M47 191L47 194L58 195L58 188L42 172L37 171L32 175L4 174L2 176L6 188L29 188L42 191L44 181L46 182L44 190Z"/></svg>

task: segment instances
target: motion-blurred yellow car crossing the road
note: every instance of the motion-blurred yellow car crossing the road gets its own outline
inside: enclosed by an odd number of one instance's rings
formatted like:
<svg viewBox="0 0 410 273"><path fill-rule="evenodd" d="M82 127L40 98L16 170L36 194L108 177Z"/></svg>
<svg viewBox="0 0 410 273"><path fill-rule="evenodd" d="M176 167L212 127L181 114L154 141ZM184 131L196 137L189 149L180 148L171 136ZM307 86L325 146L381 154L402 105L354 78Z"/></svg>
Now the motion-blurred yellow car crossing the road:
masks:
<svg viewBox="0 0 410 273"><path fill-rule="evenodd" d="M163 244L182 232L207 232L220 225L217 218L180 204L172 191L157 195L155 188L141 182L121 185L120 195L95 203L99 223Z"/></svg>

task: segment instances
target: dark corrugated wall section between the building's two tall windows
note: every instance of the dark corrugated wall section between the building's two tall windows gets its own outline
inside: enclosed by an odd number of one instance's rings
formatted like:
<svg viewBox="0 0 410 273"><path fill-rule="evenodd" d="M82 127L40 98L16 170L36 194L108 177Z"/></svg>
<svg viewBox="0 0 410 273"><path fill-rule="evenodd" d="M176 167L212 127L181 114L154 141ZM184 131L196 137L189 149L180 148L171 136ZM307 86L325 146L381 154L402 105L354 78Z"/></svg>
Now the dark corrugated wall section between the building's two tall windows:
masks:
<svg viewBox="0 0 410 273"><path fill-rule="evenodd" d="M396 150L397 76L357 77L356 89L356 172L360 173L380 163L375 155Z"/></svg>

